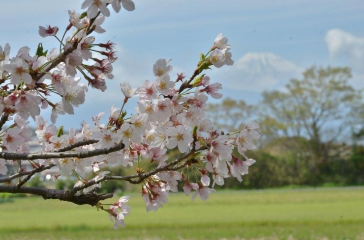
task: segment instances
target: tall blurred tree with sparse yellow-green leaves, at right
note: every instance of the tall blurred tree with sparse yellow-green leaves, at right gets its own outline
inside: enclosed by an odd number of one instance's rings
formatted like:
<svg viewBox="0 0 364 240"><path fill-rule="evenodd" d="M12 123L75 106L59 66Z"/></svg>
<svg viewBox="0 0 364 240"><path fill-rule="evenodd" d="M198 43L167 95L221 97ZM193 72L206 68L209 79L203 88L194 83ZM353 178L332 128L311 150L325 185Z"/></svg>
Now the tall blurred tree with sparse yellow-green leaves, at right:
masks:
<svg viewBox="0 0 364 240"><path fill-rule="evenodd" d="M350 78L347 67L311 67L302 80L290 80L284 91L264 92L262 135L271 141L307 138L310 168L317 171L320 163L339 154L334 143L349 140L350 131L362 121L362 91L349 85Z"/></svg>

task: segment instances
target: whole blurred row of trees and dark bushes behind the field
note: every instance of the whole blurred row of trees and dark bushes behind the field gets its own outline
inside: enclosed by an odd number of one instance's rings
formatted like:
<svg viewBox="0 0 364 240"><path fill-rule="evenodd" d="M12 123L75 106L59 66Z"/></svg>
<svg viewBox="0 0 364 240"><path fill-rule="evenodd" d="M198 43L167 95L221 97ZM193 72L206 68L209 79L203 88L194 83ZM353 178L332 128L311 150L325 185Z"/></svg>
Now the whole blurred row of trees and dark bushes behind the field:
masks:
<svg viewBox="0 0 364 240"><path fill-rule="evenodd" d="M285 88L265 91L262 101L224 99L208 115L220 129L235 131L260 123L257 162L243 185L228 188L347 186L364 184L363 91L349 84L348 67L316 67L291 79Z"/></svg>

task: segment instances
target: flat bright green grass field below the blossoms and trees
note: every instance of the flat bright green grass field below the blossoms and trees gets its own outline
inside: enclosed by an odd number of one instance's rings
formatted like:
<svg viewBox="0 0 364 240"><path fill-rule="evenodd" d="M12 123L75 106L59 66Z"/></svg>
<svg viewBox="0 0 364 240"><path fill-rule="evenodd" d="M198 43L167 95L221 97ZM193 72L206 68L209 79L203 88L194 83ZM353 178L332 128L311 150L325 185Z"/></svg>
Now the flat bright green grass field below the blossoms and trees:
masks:
<svg viewBox="0 0 364 240"><path fill-rule="evenodd" d="M17 198L0 204L0 240L364 240L363 187L219 191L206 202L174 194L150 213L133 193L129 205L126 227L113 230L90 206Z"/></svg>

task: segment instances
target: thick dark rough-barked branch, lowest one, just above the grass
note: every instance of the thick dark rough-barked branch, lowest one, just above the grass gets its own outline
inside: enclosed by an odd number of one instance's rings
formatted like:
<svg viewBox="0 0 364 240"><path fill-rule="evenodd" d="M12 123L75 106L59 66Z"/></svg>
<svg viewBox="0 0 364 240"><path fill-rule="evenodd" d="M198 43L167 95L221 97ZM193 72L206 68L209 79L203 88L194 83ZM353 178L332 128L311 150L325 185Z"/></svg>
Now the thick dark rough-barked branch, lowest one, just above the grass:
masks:
<svg viewBox="0 0 364 240"><path fill-rule="evenodd" d="M29 193L42 196L44 199L59 199L61 201L72 202L78 205L89 204L95 206L99 201L113 197L112 193L96 194L86 193L74 195L69 191L49 189L43 187L16 187L16 186L0 186L0 192L8 193Z"/></svg>

